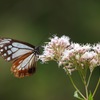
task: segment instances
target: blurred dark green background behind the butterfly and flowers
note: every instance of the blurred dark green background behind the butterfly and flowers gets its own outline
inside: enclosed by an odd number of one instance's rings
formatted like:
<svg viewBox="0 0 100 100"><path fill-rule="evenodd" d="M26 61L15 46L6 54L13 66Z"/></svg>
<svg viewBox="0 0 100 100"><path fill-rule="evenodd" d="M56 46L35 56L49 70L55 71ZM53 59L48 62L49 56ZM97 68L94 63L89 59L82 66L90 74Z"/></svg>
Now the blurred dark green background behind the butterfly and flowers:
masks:
<svg viewBox="0 0 100 100"><path fill-rule="evenodd" d="M100 41L99 0L0 0L0 37L43 45L52 34L67 35L79 43ZM39 62L37 72L23 79L11 74L11 66L0 57L0 100L76 100L68 76L56 63ZM91 80L92 89L98 70ZM77 73L73 77L83 91ZM95 95L98 99L100 88Z"/></svg>

